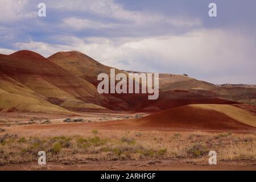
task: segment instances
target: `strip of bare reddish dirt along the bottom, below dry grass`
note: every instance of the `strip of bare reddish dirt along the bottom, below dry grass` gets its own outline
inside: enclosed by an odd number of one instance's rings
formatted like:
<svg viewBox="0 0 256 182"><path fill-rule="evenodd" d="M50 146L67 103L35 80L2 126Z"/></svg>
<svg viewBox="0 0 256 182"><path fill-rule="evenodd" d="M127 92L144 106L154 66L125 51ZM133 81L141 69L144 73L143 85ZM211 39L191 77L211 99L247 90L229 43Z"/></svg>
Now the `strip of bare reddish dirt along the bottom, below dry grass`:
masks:
<svg viewBox="0 0 256 182"><path fill-rule="evenodd" d="M220 162L216 165L191 164L174 160L143 160L143 161L85 161L80 164L57 164L46 165L32 164L9 164L1 166L0 170L86 170L86 171L256 171L254 162Z"/></svg>

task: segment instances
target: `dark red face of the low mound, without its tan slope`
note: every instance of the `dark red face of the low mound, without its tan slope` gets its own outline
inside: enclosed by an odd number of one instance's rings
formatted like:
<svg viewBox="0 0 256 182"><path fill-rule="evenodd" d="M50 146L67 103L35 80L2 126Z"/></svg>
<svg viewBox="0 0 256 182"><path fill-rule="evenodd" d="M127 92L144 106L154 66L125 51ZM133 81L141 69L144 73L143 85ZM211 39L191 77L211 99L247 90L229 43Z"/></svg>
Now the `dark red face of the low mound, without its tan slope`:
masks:
<svg viewBox="0 0 256 182"><path fill-rule="evenodd" d="M135 119L139 127L162 127L207 130L255 130L227 115L214 110L199 109L191 105L175 107Z"/></svg>

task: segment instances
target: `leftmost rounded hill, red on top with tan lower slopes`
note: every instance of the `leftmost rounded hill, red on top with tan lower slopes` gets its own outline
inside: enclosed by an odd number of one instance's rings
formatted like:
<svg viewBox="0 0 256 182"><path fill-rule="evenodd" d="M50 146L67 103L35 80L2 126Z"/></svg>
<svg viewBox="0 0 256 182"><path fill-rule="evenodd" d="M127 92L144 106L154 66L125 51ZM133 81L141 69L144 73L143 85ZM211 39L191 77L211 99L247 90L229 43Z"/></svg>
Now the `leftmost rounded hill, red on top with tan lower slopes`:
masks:
<svg viewBox="0 0 256 182"><path fill-rule="evenodd" d="M89 104L90 107L104 109L97 105L104 97L98 94L90 82L67 72L35 52L18 51L11 55L0 55L0 78L2 94L5 92L19 98L25 96L44 100L43 102L55 107L63 104L63 107L73 108L74 102L77 102L80 105ZM11 98L8 101L10 100ZM5 105L2 104L1 109L22 110L20 105L24 102L18 102L18 106L11 103L14 102L11 100ZM31 111L48 112L40 109Z"/></svg>

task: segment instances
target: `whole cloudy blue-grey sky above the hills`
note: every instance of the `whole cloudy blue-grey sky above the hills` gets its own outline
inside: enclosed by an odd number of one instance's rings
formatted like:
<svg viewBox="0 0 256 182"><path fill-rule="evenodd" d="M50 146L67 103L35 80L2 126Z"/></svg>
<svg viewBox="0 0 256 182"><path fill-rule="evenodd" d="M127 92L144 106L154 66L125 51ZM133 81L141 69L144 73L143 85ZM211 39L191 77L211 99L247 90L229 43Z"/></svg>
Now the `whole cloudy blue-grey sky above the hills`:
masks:
<svg viewBox="0 0 256 182"><path fill-rule="evenodd" d="M76 50L118 69L256 84L255 0L0 0L0 13L3 54Z"/></svg>

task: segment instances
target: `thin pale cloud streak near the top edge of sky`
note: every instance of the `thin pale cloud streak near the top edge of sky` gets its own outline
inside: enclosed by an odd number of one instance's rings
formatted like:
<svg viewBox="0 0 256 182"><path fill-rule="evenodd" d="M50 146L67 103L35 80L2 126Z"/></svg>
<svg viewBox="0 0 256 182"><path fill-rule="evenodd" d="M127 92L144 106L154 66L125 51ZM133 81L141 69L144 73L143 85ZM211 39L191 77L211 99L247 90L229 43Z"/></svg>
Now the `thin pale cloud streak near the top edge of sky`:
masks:
<svg viewBox="0 0 256 182"><path fill-rule="evenodd" d="M67 18L63 22L68 27L75 27L76 30L82 28L117 28L118 26L148 27L157 24L164 24L166 27L193 27L200 26L201 20L198 18L181 18L170 17L153 12L129 11L123 9L122 5L115 3L113 0L94 0L94 1L56 1L51 2L51 7L55 9L63 9L68 11L82 11L92 13L104 18L113 18L118 20L115 23L99 22L97 20L89 20L82 18ZM156 27L155 26L155 27Z"/></svg>

